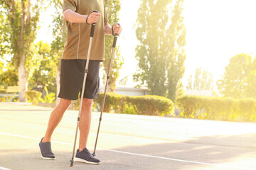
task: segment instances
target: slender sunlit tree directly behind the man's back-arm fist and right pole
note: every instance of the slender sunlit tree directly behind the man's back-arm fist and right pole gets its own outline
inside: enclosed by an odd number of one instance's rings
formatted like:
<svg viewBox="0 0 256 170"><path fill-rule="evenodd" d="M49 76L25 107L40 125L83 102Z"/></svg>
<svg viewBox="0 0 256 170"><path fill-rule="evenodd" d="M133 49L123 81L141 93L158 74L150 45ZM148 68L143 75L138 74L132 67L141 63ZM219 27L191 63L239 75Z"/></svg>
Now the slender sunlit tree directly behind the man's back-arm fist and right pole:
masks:
<svg viewBox="0 0 256 170"><path fill-rule="evenodd" d="M106 11L107 11L107 18L109 20L110 26L113 26L114 23L117 23L119 21L119 11L121 9L120 1L119 0L111 0L107 1L105 0L106 5ZM106 36L105 37L105 61L103 64L103 69L105 70L105 75L107 75L107 71L110 66L110 57L111 57L111 51L112 51L112 44L113 44L113 37L112 36ZM112 60L112 66L111 66L111 72L110 72L110 80L109 80L109 88L110 91L114 91L116 87L117 79L119 78L119 70L122 67L122 64L124 64L124 59L120 55L119 47L117 46L116 49L116 55L114 56L114 59ZM105 80L105 75L103 77L103 80Z"/></svg>

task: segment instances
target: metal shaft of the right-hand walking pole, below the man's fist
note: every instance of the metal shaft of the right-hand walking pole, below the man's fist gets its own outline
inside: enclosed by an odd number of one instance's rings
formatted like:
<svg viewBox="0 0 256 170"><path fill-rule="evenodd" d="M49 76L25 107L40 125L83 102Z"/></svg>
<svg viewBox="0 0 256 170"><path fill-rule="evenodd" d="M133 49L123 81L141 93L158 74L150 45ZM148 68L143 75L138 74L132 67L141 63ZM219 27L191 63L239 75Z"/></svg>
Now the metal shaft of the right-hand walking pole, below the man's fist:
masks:
<svg viewBox="0 0 256 170"><path fill-rule="evenodd" d="M97 147L97 139L99 137L100 123L101 123L101 120L102 120L102 113L103 113L103 110L104 110L105 99L106 99L106 95L107 95L107 85L108 85L108 81L110 79L110 70L111 70L112 58L114 57L114 49L115 49L115 47L112 47L112 53L111 53L111 57L110 57L110 67L107 71L107 81L105 82L105 92L104 92L103 101L102 101L102 108L101 108L101 111L100 111L100 122L99 122L98 130L97 130L95 148L94 148L94 151L93 151L93 154L92 154L94 157L96 156L95 152L96 152L96 147Z"/></svg>

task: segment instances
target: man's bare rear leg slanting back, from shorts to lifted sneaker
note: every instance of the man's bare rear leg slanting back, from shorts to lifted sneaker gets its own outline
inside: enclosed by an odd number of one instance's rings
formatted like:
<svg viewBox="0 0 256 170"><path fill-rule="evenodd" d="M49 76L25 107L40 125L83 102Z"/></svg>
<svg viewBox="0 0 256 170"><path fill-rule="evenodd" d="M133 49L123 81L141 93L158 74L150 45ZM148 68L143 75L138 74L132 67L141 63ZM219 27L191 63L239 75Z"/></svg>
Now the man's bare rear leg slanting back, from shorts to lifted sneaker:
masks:
<svg viewBox="0 0 256 170"><path fill-rule="evenodd" d="M50 114L46 135L43 137L42 142L50 142L50 138L53 135L53 131L60 123L60 120L63 118L63 115L67 110L68 106L70 106L70 103L71 100L60 98L60 103L58 103L58 106L56 106L56 108Z"/></svg>

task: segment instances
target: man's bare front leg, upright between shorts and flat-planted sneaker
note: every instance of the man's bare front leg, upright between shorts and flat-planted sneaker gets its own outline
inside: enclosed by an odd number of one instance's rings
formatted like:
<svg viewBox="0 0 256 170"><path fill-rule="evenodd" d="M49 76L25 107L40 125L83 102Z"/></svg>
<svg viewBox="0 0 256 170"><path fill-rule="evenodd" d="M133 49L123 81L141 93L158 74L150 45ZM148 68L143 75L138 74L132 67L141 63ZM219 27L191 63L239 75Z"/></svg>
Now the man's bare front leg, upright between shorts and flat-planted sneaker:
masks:
<svg viewBox="0 0 256 170"><path fill-rule="evenodd" d="M79 138L79 152L85 149L87 146L87 139L90 132L91 123L91 112L92 112L92 99L83 98L82 100L82 112L80 115L80 138Z"/></svg>

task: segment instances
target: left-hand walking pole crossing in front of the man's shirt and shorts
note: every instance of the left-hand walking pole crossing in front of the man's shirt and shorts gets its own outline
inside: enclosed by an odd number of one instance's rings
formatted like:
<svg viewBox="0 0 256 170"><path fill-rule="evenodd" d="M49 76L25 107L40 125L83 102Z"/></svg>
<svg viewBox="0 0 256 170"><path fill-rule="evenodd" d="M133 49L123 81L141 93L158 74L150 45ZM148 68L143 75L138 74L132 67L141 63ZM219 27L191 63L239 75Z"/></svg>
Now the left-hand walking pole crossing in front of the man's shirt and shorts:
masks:
<svg viewBox="0 0 256 170"><path fill-rule="evenodd" d="M97 10L93 11L93 12L97 12ZM88 48L88 53L87 53L87 60L86 60L86 65L85 65L85 76L84 76L84 80L82 83L82 94L81 94L81 99L80 99L80 106L79 106L79 113L78 113L78 123L77 123L77 128L75 130L75 142L74 142L74 147L73 147L73 154L72 154L72 159L70 160L70 166L72 167L74 164L74 155L75 155L75 144L76 144L76 140L78 137L78 128L79 128L79 122L80 122L80 115L81 115L81 111L82 111L82 99L84 96L84 92L85 92L85 81L86 81L86 77L87 77L87 71L88 71L88 65L89 65L89 60L90 60L90 51L92 48L92 39L94 36L94 32L95 32L95 24L96 23L92 23L92 28L91 28L91 32L90 32L90 42L89 42L89 48Z"/></svg>

